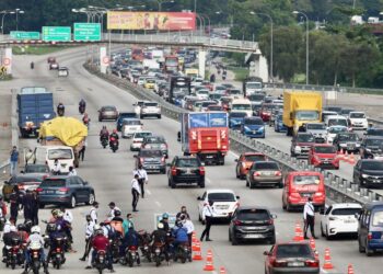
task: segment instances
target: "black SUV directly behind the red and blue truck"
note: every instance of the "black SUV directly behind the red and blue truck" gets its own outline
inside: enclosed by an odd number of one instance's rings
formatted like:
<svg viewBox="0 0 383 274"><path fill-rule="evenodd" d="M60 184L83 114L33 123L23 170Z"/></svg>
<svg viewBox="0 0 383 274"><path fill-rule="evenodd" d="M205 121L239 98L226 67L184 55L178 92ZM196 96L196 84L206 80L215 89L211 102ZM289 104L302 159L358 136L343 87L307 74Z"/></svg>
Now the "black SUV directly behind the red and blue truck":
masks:
<svg viewBox="0 0 383 274"><path fill-rule="evenodd" d="M196 183L205 187L205 168L197 157L174 157L167 171L169 186L175 189L177 184Z"/></svg>

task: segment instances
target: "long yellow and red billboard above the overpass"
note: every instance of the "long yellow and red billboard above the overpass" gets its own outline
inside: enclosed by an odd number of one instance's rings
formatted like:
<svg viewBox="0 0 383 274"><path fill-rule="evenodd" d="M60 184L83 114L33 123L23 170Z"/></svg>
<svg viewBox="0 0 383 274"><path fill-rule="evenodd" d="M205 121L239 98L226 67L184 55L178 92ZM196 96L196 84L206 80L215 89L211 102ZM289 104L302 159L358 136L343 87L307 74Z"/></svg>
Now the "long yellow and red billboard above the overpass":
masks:
<svg viewBox="0 0 383 274"><path fill-rule="evenodd" d="M193 31L193 12L131 12L108 11L107 30Z"/></svg>

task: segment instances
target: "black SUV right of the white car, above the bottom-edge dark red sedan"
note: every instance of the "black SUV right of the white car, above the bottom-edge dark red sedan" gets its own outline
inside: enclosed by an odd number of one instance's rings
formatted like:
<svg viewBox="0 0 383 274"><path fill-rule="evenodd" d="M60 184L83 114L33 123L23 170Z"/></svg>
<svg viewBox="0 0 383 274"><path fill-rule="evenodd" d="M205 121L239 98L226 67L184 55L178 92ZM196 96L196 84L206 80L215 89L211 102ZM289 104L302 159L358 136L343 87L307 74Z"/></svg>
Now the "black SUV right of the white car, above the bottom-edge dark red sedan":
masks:
<svg viewBox="0 0 383 274"><path fill-rule="evenodd" d="M270 244L276 243L276 228L274 219L264 207L240 206L234 212L229 226L229 241L236 246L240 241L264 240Z"/></svg>

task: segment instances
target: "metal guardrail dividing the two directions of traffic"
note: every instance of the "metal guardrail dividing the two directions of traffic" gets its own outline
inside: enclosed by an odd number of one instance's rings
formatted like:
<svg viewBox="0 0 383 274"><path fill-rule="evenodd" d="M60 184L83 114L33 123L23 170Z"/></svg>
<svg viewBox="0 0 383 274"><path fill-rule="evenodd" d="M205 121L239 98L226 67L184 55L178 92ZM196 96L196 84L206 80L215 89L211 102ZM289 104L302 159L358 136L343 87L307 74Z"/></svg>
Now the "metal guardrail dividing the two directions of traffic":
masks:
<svg viewBox="0 0 383 274"><path fill-rule="evenodd" d="M153 100L160 103L162 113L167 117L179 121L179 114L185 113L186 110L177 107L169 102L164 101L161 96L154 92L148 91L141 87L132 84L125 79L120 79L113 75L103 75L100 72L98 67L89 64L84 65L91 73L115 84L121 89L127 90L135 96L143 100ZM270 159L277 161L283 169L283 171L291 170L315 170L320 171L325 176L325 185L327 190L327 196L332 201L338 203L357 202L364 204L372 201L383 201L383 196L367 189L359 187L353 182L340 178L328 170L314 169L313 165L309 165L306 161L300 161L295 158L291 158L290 155L283 151L268 146L259 140L251 139L242 134L230 130L231 148L239 151L259 151L267 155Z"/></svg>

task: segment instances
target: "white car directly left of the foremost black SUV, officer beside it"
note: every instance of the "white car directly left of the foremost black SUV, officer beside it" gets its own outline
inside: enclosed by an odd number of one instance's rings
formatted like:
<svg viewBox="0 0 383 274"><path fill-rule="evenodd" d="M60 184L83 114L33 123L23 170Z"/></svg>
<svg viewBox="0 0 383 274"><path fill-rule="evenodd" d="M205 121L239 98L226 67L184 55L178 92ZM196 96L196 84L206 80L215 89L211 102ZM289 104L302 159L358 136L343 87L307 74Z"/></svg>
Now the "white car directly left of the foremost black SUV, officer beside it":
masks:
<svg viewBox="0 0 383 274"><path fill-rule="evenodd" d="M217 219L230 219L235 209L240 206L240 196L231 190L209 190L204 193L201 197L197 198L198 203L198 217L200 221L202 219L204 206L212 201L213 214L212 217Z"/></svg>

